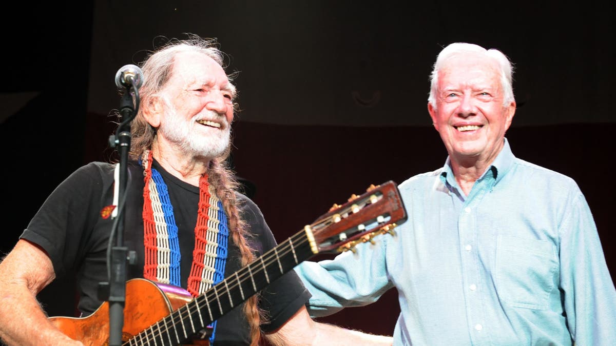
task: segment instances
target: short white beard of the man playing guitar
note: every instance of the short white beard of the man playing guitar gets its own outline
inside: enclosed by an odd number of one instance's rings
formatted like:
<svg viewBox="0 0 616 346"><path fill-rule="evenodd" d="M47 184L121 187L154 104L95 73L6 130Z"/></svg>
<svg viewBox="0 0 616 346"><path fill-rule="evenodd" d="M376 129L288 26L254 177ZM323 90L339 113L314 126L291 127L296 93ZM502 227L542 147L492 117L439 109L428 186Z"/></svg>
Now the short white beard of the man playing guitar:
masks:
<svg viewBox="0 0 616 346"><path fill-rule="evenodd" d="M224 126L222 130L215 130L213 135L195 136L195 127L205 126L197 123L197 116L189 121L177 115L172 105L165 100L165 113L161 119L158 131L169 142L176 144L180 150L197 156L205 156L208 159L216 158L227 150L230 143L231 131L229 123L224 116L212 111L215 118L219 119Z"/></svg>

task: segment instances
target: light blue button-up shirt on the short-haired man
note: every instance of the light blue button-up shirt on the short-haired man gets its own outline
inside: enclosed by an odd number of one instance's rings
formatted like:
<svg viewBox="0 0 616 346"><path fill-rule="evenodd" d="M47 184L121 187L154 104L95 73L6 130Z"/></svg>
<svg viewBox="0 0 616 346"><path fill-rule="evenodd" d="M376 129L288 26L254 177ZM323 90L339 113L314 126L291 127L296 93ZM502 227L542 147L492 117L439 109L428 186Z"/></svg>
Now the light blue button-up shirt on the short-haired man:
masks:
<svg viewBox="0 0 616 346"><path fill-rule="evenodd" d="M449 159L399 186L408 221L296 271L312 316L399 292L394 345L616 345L616 291L577 184L508 141L464 196Z"/></svg>

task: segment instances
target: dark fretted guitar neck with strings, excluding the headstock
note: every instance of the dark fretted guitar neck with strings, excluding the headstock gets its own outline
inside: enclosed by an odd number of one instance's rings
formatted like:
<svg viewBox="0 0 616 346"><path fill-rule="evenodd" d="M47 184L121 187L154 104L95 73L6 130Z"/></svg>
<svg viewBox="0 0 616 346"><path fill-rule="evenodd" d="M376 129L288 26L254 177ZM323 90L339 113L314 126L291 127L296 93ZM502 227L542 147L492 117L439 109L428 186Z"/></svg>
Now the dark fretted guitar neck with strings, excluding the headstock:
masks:
<svg viewBox="0 0 616 346"><path fill-rule="evenodd" d="M143 345L144 342L147 345L180 344L312 255L309 236L306 231L299 231L134 336L129 345Z"/></svg>

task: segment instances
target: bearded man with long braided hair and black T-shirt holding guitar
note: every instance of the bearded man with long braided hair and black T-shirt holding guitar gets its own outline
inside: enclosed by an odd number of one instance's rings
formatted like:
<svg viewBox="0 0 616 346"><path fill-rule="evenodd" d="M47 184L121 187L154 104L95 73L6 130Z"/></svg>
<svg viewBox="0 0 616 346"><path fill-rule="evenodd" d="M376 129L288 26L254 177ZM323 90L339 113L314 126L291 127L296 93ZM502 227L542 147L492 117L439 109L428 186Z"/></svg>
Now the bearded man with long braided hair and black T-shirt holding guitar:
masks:
<svg viewBox="0 0 616 346"><path fill-rule="evenodd" d="M236 91L223 58L216 41L194 35L150 54L141 66L140 108L131 125L124 243L136 251L137 263L128 276L181 287L193 297L275 246L261 211L237 192L225 164ZM115 169L95 162L73 172L0 264L0 337L7 344L82 344L51 322L36 295L75 272L79 311L97 313L103 303L98 285L108 280ZM216 346L262 339L392 344L391 337L315 323L304 306L309 298L291 270L211 323L205 338Z"/></svg>

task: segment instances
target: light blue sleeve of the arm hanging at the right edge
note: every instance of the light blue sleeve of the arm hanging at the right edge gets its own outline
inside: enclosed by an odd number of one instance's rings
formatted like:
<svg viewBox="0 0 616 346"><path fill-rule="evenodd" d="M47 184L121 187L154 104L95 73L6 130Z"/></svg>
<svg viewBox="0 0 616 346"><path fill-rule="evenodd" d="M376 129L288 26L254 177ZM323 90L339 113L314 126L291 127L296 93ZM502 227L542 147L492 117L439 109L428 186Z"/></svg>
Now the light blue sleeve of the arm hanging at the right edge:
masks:
<svg viewBox="0 0 616 346"><path fill-rule="evenodd" d="M561 228L561 289L577 345L616 345L616 291L586 199L580 193Z"/></svg>

